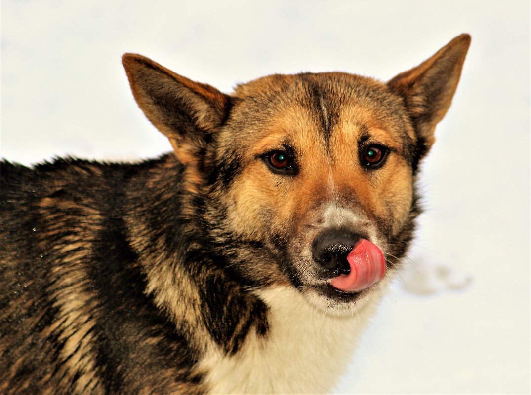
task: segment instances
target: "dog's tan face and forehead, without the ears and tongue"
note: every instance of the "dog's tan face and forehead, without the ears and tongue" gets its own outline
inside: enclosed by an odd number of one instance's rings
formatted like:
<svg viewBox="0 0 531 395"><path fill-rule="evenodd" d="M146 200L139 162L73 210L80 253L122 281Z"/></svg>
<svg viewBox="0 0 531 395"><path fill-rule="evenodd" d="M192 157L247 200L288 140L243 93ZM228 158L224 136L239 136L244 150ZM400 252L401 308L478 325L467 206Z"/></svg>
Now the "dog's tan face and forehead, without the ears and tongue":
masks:
<svg viewBox="0 0 531 395"><path fill-rule="evenodd" d="M329 285L341 262L323 267L317 244L344 243L347 253L359 236L386 251L404 229L417 141L404 105L386 85L348 74L265 77L235 96L217 157L237 169L224 227L273 252L246 270L266 275L258 284L287 277L327 309L352 308L358 294Z"/></svg>

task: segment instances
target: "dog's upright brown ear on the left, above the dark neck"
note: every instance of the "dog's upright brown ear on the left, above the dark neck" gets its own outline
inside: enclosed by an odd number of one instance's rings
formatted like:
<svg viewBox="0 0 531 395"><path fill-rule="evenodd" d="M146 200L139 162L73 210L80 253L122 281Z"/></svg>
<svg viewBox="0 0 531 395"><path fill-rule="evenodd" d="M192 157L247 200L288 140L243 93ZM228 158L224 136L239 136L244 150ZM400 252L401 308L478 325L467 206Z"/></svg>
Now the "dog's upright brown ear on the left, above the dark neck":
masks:
<svg viewBox="0 0 531 395"><path fill-rule="evenodd" d="M145 116L169 138L182 163L195 163L209 135L226 119L230 96L141 55L125 54L122 64Z"/></svg>

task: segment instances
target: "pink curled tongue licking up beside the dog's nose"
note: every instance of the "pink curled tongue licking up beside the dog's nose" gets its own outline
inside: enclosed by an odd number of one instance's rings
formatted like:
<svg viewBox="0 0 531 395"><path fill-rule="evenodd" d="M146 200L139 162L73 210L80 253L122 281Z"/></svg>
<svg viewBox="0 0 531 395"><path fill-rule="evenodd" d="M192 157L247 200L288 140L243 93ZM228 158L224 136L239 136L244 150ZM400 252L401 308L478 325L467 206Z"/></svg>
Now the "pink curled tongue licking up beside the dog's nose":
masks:
<svg viewBox="0 0 531 395"><path fill-rule="evenodd" d="M359 239L347 255L350 273L333 278L330 285L345 292L359 292L380 281L386 273L382 250L369 240Z"/></svg>

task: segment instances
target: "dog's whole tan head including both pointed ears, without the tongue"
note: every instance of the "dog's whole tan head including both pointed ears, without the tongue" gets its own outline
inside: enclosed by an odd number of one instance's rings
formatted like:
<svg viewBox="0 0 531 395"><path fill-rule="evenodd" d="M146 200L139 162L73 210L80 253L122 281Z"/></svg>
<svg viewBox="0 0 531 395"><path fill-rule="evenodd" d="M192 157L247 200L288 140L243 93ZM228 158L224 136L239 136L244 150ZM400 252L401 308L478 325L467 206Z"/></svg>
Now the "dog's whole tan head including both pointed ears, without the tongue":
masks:
<svg viewBox="0 0 531 395"><path fill-rule="evenodd" d="M452 40L382 83L346 73L272 75L225 95L138 55L124 55L133 94L184 165L209 243L230 254L243 284L290 284L325 311L360 295L348 274L361 239L388 268L407 248L419 210L419 160L456 90L470 38Z"/></svg>

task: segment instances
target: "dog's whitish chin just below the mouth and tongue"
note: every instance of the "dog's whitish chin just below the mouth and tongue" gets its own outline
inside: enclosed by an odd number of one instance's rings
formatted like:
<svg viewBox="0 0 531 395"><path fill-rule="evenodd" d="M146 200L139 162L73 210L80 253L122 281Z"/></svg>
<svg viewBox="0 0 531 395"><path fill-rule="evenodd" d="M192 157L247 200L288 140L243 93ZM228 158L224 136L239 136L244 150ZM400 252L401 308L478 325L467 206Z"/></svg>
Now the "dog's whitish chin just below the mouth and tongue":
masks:
<svg viewBox="0 0 531 395"><path fill-rule="evenodd" d="M304 287L302 293L323 313L353 315L358 314L367 304L378 301L382 292L381 284L374 284L361 292L343 292L330 284L324 284Z"/></svg>

